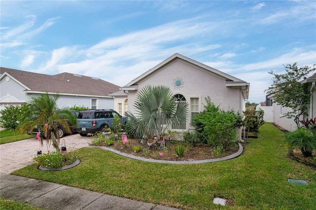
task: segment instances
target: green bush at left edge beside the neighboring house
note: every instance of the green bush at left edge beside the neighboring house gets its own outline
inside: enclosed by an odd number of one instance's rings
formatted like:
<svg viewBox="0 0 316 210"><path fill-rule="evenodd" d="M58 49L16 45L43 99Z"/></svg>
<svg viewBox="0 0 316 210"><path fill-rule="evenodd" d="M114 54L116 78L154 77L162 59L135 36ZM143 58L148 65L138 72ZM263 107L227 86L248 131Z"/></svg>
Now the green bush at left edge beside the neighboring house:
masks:
<svg viewBox="0 0 316 210"><path fill-rule="evenodd" d="M0 127L15 130L19 125L19 119L24 106L24 104L17 106L10 105L0 110Z"/></svg>

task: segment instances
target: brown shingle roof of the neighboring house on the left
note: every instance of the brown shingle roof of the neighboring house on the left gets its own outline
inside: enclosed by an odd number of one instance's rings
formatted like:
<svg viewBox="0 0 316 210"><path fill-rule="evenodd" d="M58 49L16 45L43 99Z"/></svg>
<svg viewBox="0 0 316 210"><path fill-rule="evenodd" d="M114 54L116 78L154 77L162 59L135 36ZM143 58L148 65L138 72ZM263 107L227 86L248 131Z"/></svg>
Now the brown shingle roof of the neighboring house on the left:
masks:
<svg viewBox="0 0 316 210"><path fill-rule="evenodd" d="M0 74L7 72L31 91L61 94L108 96L119 91L119 86L102 79L72 73L47 75L0 67Z"/></svg>

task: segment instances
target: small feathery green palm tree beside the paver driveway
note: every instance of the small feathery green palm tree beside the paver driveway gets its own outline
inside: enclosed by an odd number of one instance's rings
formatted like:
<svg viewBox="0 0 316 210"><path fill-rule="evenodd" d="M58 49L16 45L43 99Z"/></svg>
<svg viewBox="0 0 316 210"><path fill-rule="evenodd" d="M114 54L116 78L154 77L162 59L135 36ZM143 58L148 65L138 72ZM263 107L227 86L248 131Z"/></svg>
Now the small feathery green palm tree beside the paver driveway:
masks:
<svg viewBox="0 0 316 210"><path fill-rule="evenodd" d="M70 125L67 120L72 125L76 124L76 117L71 112L66 108L58 108L56 101L59 97L59 94L50 97L48 93L40 94L37 97L31 96L26 103L25 109L22 111L19 124L21 133L25 133L27 129L31 129L31 132L33 132L35 127L39 127L42 134L40 138L41 143L43 136L46 137L49 145L52 142L53 147L58 152L60 151L59 135L55 135L58 127L70 132Z"/></svg>

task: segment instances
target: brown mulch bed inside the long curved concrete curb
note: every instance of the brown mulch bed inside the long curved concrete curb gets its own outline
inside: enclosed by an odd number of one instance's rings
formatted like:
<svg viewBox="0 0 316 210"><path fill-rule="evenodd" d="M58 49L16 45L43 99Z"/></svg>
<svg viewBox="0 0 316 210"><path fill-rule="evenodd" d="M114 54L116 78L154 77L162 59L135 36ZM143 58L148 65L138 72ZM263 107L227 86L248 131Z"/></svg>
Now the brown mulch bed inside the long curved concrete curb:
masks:
<svg viewBox="0 0 316 210"><path fill-rule="evenodd" d="M174 148L177 147L178 144L182 144L185 149L188 147L187 153L182 158L176 158L177 154ZM137 145L141 145L141 149L139 152L135 152L133 150L133 147ZM158 144L150 147L147 145L147 142L144 142L144 144L142 144L141 140L139 139L128 139L128 142L126 144L123 144L122 141L115 141L113 145L108 145L104 142L100 146L110 147L120 152L143 158L172 161L195 161L220 158L234 154L239 149L238 144L233 143L229 149L217 155L216 151L214 151L214 148L210 147L207 144L199 143L196 146L191 146L181 141L171 140L171 142L165 142L165 148L163 148L163 146L160 147ZM163 154L163 156L161 154Z"/></svg>

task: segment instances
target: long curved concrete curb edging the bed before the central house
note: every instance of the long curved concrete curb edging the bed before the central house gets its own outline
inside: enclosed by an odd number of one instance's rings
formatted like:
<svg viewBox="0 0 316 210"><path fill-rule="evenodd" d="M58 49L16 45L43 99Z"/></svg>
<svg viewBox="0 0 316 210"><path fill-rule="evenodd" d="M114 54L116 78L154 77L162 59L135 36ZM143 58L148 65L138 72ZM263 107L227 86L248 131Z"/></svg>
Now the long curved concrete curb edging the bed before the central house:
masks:
<svg viewBox="0 0 316 210"><path fill-rule="evenodd" d="M135 160L140 160L140 161L152 162L152 163L200 164L200 163L212 163L212 162L219 162L219 161L224 161L224 160L230 160L230 159L238 157L239 155L241 155L241 153L243 151L243 147L242 147L241 143L237 142L237 144L239 145L239 149L234 154L231 154L231 155L226 156L226 157L221 157L221 158L214 158L214 159L208 159L208 160L195 160L195 161L170 161L170 160L147 159L147 158L143 158L143 157L138 157L138 156L126 154L126 153L123 153L123 152L120 152L118 150L115 150L115 149L112 149L112 148L109 148L109 147L105 147L105 146L86 146L86 147L105 149L105 150L114 152L114 153L116 153L118 155L121 155L121 156L124 156L124 157L128 157L128 158L135 159Z"/></svg>

